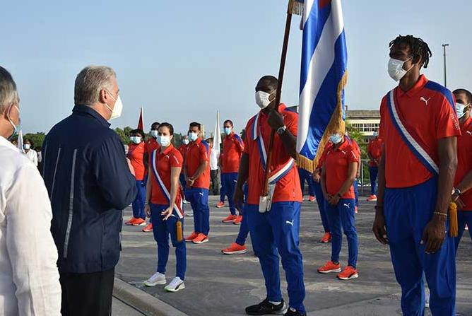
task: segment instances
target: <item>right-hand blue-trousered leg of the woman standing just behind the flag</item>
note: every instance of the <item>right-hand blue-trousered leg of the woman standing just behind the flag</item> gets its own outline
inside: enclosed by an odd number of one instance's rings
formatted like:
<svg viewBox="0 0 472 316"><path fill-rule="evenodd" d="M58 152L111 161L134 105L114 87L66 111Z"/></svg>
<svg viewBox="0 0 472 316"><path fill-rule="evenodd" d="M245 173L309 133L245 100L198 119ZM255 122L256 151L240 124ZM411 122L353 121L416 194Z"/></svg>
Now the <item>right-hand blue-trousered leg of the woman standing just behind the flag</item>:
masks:
<svg viewBox="0 0 472 316"><path fill-rule="evenodd" d="M348 265L355 268L358 262L358 233L355 230L354 199L342 199L339 213L343 231L348 239L349 261Z"/></svg>

